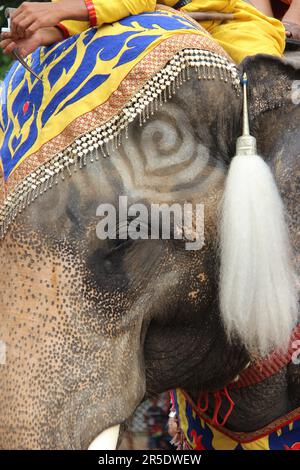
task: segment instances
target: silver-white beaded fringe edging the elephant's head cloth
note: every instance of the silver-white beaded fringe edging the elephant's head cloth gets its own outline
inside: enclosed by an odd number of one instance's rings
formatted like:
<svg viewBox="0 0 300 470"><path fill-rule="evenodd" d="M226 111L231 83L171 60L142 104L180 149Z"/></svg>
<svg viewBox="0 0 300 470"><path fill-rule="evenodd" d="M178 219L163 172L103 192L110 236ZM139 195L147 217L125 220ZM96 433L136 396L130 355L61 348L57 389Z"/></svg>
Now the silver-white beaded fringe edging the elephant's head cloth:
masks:
<svg viewBox="0 0 300 470"><path fill-rule="evenodd" d="M68 148L27 176L9 195L0 209L0 239L3 238L16 216L37 197L45 193L59 177L72 175L71 168L83 168L87 158L93 162L95 150L100 148L103 157L122 145L128 138L128 126L139 117L140 126L158 110L159 106L176 93L190 79L191 69L196 69L199 80L218 78L231 82L240 93L240 76L236 66L226 58L210 51L184 49L178 52L160 72L128 102L126 107L109 122L76 139ZM96 155L95 160L98 160Z"/></svg>

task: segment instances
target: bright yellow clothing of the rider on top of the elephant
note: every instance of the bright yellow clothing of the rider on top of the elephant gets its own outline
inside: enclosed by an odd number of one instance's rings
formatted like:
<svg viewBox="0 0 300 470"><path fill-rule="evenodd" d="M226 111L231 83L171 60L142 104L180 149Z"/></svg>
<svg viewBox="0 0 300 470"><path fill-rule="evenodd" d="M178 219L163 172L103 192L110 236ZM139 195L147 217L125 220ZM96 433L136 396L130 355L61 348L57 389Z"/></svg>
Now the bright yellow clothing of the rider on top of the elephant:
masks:
<svg viewBox="0 0 300 470"><path fill-rule="evenodd" d="M59 0L52 0L59 1ZM129 15L154 11L159 4L178 8L178 0L86 0L90 3L90 22L64 21L58 25L65 37L81 33L90 26L114 23ZM282 56L285 28L275 18L265 16L243 0L191 0L180 8L185 12L215 11L232 13L233 20L202 21L212 37L239 63L255 54Z"/></svg>

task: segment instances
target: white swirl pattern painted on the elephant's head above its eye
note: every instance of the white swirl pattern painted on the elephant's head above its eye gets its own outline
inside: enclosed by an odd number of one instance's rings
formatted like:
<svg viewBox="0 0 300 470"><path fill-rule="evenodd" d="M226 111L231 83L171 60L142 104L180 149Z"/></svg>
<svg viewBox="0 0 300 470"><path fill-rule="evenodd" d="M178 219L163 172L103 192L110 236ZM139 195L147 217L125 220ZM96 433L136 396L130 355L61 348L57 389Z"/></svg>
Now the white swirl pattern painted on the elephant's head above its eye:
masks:
<svg viewBox="0 0 300 470"><path fill-rule="evenodd" d="M190 117L176 103L141 128L129 130L121 149L111 153L124 190L135 198L174 199L176 193L206 192L224 177L222 164L195 135ZM200 181L201 179L201 181Z"/></svg>

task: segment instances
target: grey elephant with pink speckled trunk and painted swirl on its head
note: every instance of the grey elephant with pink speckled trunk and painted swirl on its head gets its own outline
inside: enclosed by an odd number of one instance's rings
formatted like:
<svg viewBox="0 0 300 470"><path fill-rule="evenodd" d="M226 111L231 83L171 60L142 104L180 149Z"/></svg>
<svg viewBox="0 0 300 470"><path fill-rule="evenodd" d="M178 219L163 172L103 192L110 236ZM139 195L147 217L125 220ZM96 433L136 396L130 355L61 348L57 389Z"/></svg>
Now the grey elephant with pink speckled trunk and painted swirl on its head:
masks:
<svg viewBox="0 0 300 470"><path fill-rule="evenodd" d="M264 55L239 72L248 75L251 132L282 196L299 273L300 72ZM191 70L146 122L132 120L109 155L93 151L16 215L0 243L1 449L87 449L146 396L180 388L197 400L252 361L243 338L228 338L218 294L219 206L242 108L230 80L199 80ZM120 195L146 208L202 204L202 249L161 232L100 239L99 206L118 208ZM128 215L126 228L132 222ZM300 406L299 367L232 397L228 428L262 428Z"/></svg>

